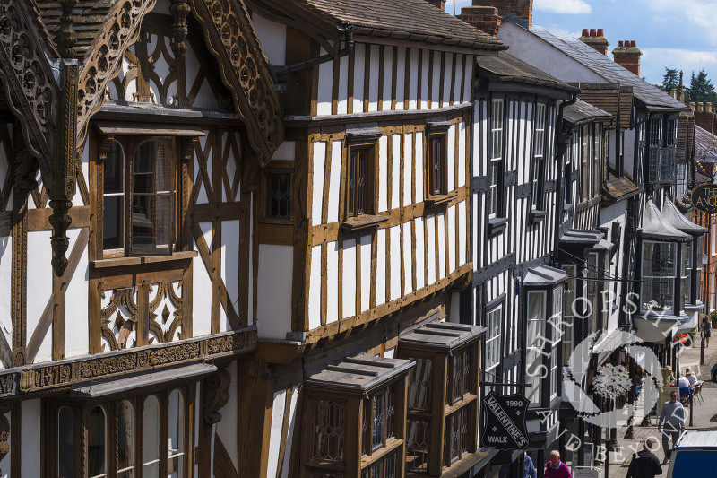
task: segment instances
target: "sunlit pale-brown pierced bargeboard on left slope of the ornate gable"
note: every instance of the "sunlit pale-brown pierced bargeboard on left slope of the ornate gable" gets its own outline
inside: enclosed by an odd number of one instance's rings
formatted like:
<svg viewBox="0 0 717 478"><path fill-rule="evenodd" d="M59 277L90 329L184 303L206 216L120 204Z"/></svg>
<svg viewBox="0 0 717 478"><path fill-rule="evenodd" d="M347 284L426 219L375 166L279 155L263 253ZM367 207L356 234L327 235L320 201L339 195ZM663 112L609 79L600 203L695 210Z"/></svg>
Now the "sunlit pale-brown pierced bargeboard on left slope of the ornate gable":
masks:
<svg viewBox="0 0 717 478"><path fill-rule="evenodd" d="M0 0L8 1L8 0ZM108 83L119 73L122 57L137 39L143 17L154 7L155 0L124 0L114 7L113 17L95 39L91 56L82 65L77 91L77 147L82 148L90 118L102 106Z"/></svg>

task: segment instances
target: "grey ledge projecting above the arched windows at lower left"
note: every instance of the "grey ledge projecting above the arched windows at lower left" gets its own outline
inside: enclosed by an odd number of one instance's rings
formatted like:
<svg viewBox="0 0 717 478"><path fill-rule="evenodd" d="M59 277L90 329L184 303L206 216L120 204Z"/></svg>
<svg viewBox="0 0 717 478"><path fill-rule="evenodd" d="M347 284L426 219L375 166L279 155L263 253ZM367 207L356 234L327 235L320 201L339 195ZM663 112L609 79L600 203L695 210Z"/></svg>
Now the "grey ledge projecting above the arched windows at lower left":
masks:
<svg viewBox="0 0 717 478"><path fill-rule="evenodd" d="M70 395L78 398L100 398L108 395L120 395L136 392L143 388L157 387L181 380L182 382L196 381L217 371L215 365L209 363L194 363L183 367L173 367L157 372L142 373L132 377L122 376L111 380L82 384L73 387Z"/></svg>

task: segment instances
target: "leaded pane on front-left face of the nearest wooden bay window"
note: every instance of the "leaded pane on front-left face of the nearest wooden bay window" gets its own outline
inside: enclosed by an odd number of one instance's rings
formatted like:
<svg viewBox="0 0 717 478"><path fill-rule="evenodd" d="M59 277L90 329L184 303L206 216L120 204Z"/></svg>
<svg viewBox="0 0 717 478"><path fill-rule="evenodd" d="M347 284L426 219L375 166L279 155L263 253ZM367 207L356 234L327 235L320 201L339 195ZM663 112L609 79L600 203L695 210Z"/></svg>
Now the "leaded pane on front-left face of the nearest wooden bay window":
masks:
<svg viewBox="0 0 717 478"><path fill-rule="evenodd" d="M316 400L314 408L314 458L343 461L344 404Z"/></svg>

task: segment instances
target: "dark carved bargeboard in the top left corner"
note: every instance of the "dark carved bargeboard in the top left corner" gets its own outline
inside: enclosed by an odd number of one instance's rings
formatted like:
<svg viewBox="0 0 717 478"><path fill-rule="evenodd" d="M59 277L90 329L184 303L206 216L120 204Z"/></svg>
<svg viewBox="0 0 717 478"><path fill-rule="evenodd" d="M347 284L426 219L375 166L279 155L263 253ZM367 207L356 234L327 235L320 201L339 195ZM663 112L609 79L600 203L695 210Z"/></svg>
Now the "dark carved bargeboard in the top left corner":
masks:
<svg viewBox="0 0 717 478"><path fill-rule="evenodd" d="M51 178L58 86L26 0L0 0L0 83L44 178Z"/></svg>

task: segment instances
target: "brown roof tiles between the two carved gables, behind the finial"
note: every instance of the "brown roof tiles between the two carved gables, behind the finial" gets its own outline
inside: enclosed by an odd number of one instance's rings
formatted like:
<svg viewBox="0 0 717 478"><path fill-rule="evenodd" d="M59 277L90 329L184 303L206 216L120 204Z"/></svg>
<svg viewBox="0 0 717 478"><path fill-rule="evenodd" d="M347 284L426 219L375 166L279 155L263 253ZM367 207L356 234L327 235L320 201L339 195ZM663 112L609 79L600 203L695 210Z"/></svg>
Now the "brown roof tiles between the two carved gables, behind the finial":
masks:
<svg viewBox="0 0 717 478"><path fill-rule="evenodd" d="M73 8L73 30L77 32L75 48L82 56L86 55L92 41L97 37L99 29L108 17L117 0L80 0ZM58 2L38 0L37 6L50 35L55 34L60 26L62 8Z"/></svg>

